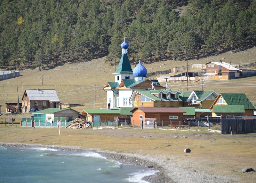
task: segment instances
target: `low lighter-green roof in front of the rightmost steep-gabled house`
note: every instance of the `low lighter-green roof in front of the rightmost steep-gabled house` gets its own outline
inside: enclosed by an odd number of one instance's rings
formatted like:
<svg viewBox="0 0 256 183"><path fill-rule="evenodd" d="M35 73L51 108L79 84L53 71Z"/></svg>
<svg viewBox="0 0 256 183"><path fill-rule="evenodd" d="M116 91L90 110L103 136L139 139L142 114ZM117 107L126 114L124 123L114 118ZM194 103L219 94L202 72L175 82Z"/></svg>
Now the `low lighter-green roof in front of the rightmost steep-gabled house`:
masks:
<svg viewBox="0 0 256 183"><path fill-rule="evenodd" d="M244 105L213 105L214 113L244 113Z"/></svg>

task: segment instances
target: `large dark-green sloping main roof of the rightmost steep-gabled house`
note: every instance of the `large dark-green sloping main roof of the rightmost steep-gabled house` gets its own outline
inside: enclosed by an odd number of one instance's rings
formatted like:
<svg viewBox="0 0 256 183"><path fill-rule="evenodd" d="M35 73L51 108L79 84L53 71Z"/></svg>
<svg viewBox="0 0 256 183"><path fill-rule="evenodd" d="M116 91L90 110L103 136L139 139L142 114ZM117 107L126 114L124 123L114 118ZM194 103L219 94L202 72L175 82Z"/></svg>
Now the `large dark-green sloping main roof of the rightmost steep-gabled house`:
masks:
<svg viewBox="0 0 256 183"><path fill-rule="evenodd" d="M244 105L244 109L255 110L255 107L244 93L222 93L220 95L228 105Z"/></svg>

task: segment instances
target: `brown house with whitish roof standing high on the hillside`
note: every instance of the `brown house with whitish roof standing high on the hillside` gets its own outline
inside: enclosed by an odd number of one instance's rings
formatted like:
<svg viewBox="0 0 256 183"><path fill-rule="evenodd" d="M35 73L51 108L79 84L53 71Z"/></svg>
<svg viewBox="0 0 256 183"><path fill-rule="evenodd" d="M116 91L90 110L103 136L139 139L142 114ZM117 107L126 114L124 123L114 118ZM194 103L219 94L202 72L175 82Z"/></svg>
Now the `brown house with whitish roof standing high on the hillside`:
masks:
<svg viewBox="0 0 256 183"><path fill-rule="evenodd" d="M227 79L236 79L241 76L241 71L225 62L208 62L206 65L207 76L227 76Z"/></svg>

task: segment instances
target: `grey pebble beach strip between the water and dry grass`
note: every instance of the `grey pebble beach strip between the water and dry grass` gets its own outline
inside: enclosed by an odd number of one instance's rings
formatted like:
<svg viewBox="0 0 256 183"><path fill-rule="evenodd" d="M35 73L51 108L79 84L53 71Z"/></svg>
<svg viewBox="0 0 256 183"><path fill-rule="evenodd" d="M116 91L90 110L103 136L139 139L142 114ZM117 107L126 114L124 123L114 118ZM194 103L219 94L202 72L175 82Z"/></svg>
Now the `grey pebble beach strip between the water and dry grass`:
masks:
<svg viewBox="0 0 256 183"><path fill-rule="evenodd" d="M98 152L109 160L116 160L122 164L133 164L147 166L152 170L157 170L158 173L152 176L144 177L143 179L151 183L212 183L212 182L238 182L236 177L225 177L213 175L204 168L194 167L196 171L191 171L188 167L193 166L186 164L186 162L177 162L175 159L166 160L165 157L152 157L149 155L136 155L128 153L117 153L110 151L103 151L100 149L82 149L78 146L60 146L60 145L41 145L41 144L26 144L26 143L4 143L0 142L3 147L47 147L61 151L81 151L89 150Z"/></svg>

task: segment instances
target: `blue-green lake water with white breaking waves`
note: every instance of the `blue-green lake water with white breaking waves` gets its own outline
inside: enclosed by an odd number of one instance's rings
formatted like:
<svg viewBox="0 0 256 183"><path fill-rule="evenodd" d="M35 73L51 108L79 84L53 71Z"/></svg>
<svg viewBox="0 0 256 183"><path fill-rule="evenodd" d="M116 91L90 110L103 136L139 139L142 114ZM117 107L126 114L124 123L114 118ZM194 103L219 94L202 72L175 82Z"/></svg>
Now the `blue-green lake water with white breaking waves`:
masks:
<svg viewBox="0 0 256 183"><path fill-rule="evenodd" d="M146 183L147 167L120 164L91 151L0 146L0 182Z"/></svg>

